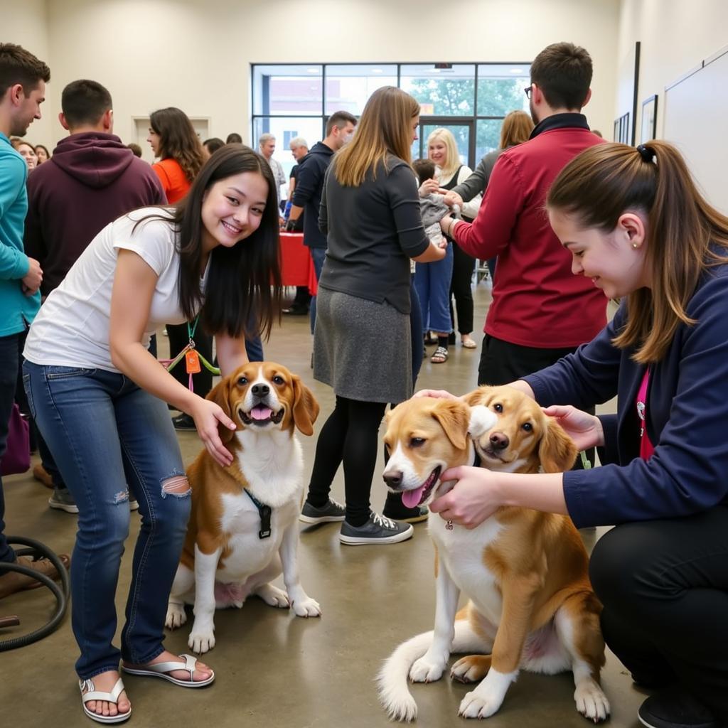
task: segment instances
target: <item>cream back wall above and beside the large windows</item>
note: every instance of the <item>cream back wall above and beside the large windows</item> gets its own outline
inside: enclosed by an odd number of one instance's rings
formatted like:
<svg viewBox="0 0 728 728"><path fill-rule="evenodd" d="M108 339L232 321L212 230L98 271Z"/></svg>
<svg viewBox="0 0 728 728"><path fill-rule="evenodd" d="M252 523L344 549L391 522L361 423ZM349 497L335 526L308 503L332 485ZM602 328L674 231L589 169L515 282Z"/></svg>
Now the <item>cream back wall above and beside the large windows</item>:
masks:
<svg viewBox="0 0 728 728"><path fill-rule="evenodd" d="M28 12L43 15L41 0ZM210 134L250 134L250 63L530 61L573 41L594 60L594 127L614 117L619 0L47 0L50 108L92 78L114 97L116 132L132 116L179 106L210 116ZM0 0L0 17L17 0ZM25 12L25 9L23 10ZM7 37L6 23L2 34ZM48 141L57 141L62 132ZM39 138L38 141L43 141Z"/></svg>

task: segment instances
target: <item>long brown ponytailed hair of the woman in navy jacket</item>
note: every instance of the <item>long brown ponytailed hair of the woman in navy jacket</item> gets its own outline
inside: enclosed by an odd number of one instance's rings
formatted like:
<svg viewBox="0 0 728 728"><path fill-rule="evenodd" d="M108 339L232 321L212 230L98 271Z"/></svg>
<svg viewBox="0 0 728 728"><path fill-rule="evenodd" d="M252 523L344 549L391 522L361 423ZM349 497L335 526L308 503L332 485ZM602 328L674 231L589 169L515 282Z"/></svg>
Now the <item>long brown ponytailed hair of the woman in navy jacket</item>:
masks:
<svg viewBox="0 0 728 728"><path fill-rule="evenodd" d="M546 205L604 232L628 210L647 215L652 288L627 296L627 323L613 343L634 347L640 364L662 359L678 325L695 324L687 305L705 269L728 263L728 218L701 196L681 154L664 141L597 144L563 168Z"/></svg>

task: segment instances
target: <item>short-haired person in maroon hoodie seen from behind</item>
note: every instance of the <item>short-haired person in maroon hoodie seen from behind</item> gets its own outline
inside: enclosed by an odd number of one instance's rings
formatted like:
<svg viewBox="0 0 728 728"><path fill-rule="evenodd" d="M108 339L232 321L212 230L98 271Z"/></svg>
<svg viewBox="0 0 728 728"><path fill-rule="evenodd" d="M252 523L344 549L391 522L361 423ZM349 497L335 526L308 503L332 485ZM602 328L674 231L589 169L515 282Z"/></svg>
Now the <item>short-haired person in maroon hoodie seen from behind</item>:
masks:
<svg viewBox="0 0 728 728"><path fill-rule="evenodd" d="M167 202L159 178L112 133L111 94L101 84L82 79L68 84L58 115L71 132L58 142L48 163L28 177L28 215L23 242L28 256L44 271L41 295L56 288L95 235L135 207ZM53 486L50 507L78 513L42 438L41 466L33 475ZM132 502L134 507L135 502Z"/></svg>

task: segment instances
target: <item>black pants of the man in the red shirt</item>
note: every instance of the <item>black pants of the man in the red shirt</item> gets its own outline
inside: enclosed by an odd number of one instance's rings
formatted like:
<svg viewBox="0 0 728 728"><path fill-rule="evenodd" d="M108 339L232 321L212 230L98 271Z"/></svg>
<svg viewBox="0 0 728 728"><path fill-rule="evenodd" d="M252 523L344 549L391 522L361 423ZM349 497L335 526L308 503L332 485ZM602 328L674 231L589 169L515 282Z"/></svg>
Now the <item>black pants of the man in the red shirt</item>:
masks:
<svg viewBox="0 0 728 728"><path fill-rule="evenodd" d="M536 349L535 347L521 347L502 341L486 333L483 338L483 349L480 350L480 365L478 365L478 386L480 384L509 384L515 379L533 374L555 364L561 357L576 351L577 347L561 347L558 349ZM594 414L592 407L586 410ZM585 451L587 460L593 466L596 462L594 449ZM577 459L574 470L582 470L581 458Z"/></svg>

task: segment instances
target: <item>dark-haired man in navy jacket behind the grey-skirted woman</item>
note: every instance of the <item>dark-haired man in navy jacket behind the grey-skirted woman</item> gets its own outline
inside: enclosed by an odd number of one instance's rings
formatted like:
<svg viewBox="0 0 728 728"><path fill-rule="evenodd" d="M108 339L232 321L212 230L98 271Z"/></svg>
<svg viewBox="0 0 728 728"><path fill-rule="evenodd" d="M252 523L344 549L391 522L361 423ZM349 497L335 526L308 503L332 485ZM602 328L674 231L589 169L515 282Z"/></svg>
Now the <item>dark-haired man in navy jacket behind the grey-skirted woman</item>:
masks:
<svg viewBox="0 0 728 728"><path fill-rule="evenodd" d="M316 270L316 280L321 277L326 257L326 236L318 229L318 211L321 206L323 181L331 157L352 138L357 118L348 111L336 111L326 122L326 136L312 146L311 151L298 163L296 189L293 191L293 205L290 207L286 229L293 229L299 215L304 215L304 245L311 250ZM316 323L316 297L311 299L311 333Z"/></svg>

